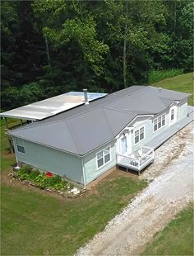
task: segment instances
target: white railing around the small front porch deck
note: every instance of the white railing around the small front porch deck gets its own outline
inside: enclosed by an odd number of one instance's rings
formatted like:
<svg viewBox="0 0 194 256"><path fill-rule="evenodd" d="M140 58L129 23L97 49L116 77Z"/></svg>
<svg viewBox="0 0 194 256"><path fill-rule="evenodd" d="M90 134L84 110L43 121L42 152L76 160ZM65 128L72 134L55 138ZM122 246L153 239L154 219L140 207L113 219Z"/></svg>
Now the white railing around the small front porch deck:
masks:
<svg viewBox="0 0 194 256"><path fill-rule="evenodd" d="M154 161L154 149L142 146L133 154L117 154L117 164L125 168L141 171Z"/></svg>

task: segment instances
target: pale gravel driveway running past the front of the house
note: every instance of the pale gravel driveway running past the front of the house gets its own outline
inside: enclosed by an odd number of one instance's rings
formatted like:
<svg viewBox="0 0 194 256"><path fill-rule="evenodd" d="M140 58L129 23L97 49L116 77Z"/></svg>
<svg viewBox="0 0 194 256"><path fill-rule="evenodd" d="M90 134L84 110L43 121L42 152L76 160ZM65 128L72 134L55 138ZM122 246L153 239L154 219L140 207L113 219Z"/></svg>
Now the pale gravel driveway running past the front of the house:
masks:
<svg viewBox="0 0 194 256"><path fill-rule="evenodd" d="M193 122L155 151L140 178L150 184L78 255L138 255L153 235L193 201Z"/></svg>

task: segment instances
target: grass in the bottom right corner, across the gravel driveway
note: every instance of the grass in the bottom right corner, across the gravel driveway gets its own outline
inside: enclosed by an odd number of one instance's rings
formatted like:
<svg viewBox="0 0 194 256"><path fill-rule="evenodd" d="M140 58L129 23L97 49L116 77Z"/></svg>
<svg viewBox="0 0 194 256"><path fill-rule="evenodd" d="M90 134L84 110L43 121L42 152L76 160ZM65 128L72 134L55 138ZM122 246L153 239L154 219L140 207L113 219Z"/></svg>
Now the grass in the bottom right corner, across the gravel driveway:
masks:
<svg viewBox="0 0 194 256"><path fill-rule="evenodd" d="M142 255L193 255L193 206L155 235Z"/></svg>

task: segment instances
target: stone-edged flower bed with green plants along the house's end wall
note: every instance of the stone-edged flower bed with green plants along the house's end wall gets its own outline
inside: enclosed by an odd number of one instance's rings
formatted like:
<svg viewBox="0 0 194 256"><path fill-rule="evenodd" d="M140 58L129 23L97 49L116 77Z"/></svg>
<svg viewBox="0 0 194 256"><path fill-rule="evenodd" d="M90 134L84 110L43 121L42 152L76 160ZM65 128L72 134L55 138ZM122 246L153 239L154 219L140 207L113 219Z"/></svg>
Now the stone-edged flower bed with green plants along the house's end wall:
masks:
<svg viewBox="0 0 194 256"><path fill-rule="evenodd" d="M15 169L13 177L21 180L25 184L46 189L49 192L58 192L67 197L71 194L79 195L80 191L71 183L62 180L59 175L53 176L52 173L40 173L39 170L33 170L29 165Z"/></svg>

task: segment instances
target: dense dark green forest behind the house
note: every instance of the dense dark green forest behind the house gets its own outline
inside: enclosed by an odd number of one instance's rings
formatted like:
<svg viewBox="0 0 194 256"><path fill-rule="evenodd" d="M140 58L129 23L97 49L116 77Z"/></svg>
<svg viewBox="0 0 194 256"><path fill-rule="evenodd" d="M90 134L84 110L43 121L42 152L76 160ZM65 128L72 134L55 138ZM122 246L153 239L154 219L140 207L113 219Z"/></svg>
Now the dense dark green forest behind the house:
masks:
<svg viewBox="0 0 194 256"><path fill-rule="evenodd" d="M1 1L2 110L193 66L193 2Z"/></svg>

